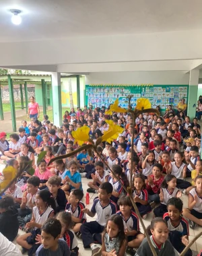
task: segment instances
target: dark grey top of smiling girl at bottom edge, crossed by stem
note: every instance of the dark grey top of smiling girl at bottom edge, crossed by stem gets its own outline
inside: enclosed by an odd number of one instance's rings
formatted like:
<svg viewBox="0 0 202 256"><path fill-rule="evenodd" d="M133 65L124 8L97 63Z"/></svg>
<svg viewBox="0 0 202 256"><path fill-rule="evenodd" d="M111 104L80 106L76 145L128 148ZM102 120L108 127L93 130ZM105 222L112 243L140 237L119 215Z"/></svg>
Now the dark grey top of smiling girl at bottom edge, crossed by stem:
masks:
<svg viewBox="0 0 202 256"><path fill-rule="evenodd" d="M156 255L158 256L176 255L176 253L174 252L174 247L171 245L170 241L166 240L166 242L160 246L156 243L153 236L150 236L150 241L154 247L154 250L156 251ZM153 253L151 252L147 238L143 239L143 241L141 242L141 245L139 246L139 248L137 249L137 252L135 253L135 256L143 256L143 255L153 256Z"/></svg>

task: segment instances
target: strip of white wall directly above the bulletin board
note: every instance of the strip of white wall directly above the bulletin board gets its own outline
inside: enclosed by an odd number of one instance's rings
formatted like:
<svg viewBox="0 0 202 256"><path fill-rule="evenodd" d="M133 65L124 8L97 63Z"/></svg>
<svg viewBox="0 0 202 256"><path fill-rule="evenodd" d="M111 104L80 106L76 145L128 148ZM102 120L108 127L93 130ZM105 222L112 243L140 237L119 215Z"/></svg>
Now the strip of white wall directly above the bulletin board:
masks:
<svg viewBox="0 0 202 256"><path fill-rule="evenodd" d="M189 73L183 71L102 72L86 75L86 84L188 85Z"/></svg>

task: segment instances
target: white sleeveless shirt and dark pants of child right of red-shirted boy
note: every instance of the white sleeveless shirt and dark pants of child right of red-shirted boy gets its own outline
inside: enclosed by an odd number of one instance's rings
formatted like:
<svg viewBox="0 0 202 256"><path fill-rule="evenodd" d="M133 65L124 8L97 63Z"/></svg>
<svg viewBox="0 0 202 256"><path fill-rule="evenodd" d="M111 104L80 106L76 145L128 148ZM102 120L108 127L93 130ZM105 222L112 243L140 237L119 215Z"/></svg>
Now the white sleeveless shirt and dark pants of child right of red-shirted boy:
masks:
<svg viewBox="0 0 202 256"><path fill-rule="evenodd" d="M160 203L160 205L154 209L154 215L156 217L163 217L164 216L164 214L168 211L167 210L168 199L170 199L172 197L176 197L176 194L178 193L178 191L179 190L176 187L174 188L172 193L170 193L170 191L168 191L167 188L162 188L162 192L164 194L164 201L162 201Z"/></svg>

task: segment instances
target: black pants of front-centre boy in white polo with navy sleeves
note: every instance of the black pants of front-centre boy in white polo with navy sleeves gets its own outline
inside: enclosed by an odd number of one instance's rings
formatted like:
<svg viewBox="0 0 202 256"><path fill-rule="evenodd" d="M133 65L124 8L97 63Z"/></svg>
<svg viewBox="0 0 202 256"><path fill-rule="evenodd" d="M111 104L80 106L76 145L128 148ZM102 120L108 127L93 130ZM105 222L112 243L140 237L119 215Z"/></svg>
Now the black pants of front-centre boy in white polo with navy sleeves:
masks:
<svg viewBox="0 0 202 256"><path fill-rule="evenodd" d="M104 226L98 224L98 222L86 222L81 225L81 235L83 241L83 247L88 248L90 244L94 243L94 241L102 241L101 234L104 230ZM93 237L94 234L94 237Z"/></svg>

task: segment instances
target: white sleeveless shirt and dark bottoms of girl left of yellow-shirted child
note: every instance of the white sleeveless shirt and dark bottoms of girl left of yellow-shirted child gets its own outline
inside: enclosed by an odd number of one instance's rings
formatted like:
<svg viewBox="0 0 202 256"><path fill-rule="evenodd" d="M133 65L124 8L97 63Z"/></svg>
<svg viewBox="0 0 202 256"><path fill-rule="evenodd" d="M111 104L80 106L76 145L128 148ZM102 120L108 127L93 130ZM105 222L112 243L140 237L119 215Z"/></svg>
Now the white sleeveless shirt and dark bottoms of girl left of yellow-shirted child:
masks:
<svg viewBox="0 0 202 256"><path fill-rule="evenodd" d="M188 187L191 187L191 183L189 183L189 181L183 181L181 179L182 171L184 169L184 166L186 166L186 164L182 162L180 166L176 166L176 163L172 162L171 165L172 165L171 174L176 177L176 183L177 183L176 187L178 187L179 189L187 189Z"/></svg>

